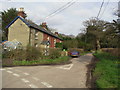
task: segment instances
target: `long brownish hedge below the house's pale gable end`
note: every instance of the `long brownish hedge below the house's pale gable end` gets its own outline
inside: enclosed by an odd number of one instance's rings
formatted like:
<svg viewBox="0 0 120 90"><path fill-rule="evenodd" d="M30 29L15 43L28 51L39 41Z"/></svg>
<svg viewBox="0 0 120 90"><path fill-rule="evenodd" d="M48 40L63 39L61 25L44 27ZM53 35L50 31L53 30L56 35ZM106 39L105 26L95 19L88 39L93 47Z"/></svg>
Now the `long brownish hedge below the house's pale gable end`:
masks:
<svg viewBox="0 0 120 90"><path fill-rule="evenodd" d="M27 46L26 50L11 50L2 54L3 59L12 59L17 61L22 60L37 60L42 57L42 52L39 48Z"/></svg>

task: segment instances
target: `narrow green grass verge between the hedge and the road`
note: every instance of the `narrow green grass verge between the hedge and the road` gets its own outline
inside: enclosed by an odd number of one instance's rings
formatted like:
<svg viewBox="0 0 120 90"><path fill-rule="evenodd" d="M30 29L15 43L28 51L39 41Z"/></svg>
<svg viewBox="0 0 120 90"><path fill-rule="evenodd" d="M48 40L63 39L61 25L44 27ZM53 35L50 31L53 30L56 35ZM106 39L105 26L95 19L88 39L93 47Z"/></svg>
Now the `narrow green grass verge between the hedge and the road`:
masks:
<svg viewBox="0 0 120 90"><path fill-rule="evenodd" d="M34 61L13 61L13 65L53 65L53 64L65 64L69 61L69 57L59 57L57 59L43 59L43 60L34 60Z"/></svg>

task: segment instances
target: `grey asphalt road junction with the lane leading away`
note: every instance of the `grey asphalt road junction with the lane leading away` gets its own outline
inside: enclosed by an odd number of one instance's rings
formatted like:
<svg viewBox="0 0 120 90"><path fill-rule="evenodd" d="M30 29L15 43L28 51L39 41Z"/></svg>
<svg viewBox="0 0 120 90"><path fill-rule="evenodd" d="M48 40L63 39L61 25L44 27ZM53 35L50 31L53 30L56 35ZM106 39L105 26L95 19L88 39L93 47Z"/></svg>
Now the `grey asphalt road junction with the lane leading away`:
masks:
<svg viewBox="0 0 120 90"><path fill-rule="evenodd" d="M87 88L86 65L91 59L87 54L66 65L2 68L2 88Z"/></svg>

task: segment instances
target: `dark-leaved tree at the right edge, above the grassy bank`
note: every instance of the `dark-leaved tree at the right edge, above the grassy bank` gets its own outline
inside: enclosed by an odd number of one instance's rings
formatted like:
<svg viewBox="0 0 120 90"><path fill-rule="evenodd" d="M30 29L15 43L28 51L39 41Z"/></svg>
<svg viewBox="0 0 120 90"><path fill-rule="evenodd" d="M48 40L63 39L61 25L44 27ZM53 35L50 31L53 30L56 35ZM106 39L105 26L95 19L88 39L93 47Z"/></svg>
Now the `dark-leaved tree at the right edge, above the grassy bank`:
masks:
<svg viewBox="0 0 120 90"><path fill-rule="evenodd" d="M120 38L120 24L116 21L112 23L106 23L105 36L106 44L108 47L119 47Z"/></svg>

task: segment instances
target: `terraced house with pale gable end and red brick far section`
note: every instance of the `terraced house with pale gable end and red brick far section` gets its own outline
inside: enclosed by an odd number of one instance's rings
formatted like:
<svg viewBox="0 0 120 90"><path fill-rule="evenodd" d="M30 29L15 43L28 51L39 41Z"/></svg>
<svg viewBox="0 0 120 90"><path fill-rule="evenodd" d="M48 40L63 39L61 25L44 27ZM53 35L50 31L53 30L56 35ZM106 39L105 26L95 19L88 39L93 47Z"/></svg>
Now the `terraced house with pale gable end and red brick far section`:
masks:
<svg viewBox="0 0 120 90"><path fill-rule="evenodd" d="M25 19L23 8L19 9L18 16L6 27L8 28L8 41L18 41L23 46L28 44L32 46L46 45L55 48L55 44L62 43L62 39L58 37L58 33L52 33L46 28L46 23L41 26Z"/></svg>

